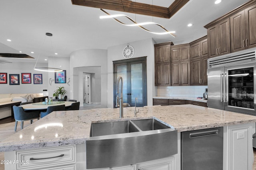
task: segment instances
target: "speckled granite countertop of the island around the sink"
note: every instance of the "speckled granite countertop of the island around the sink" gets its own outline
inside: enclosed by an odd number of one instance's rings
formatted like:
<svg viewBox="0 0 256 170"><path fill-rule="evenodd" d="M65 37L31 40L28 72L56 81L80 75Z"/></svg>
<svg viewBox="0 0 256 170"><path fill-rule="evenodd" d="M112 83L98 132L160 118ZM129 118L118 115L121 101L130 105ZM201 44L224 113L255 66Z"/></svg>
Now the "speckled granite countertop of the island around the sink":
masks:
<svg viewBox="0 0 256 170"><path fill-rule="evenodd" d="M256 122L256 116L194 105L124 107L75 111L54 111L16 132L0 143L0 152L38 149L85 143L90 139L91 123L126 119L155 118L178 132Z"/></svg>

